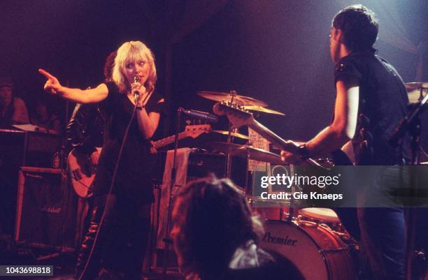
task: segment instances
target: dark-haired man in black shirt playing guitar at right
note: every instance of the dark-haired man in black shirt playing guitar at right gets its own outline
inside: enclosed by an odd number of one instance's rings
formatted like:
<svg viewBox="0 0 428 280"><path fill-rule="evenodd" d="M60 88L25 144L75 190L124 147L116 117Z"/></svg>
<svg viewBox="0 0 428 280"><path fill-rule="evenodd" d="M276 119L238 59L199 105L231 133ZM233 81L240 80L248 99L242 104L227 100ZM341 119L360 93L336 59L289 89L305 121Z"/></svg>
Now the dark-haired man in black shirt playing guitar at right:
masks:
<svg viewBox="0 0 428 280"><path fill-rule="evenodd" d="M378 37L378 22L373 12L362 5L344 8L334 17L329 37L331 59L336 63L334 119L303 145L295 147L290 143L291 152L281 152L283 159L299 162L316 158L352 140L352 146L359 148L355 155L359 165L404 163L410 159L409 136L405 135L402 149L392 147L387 138L406 116L408 97L400 75L378 57L373 48ZM357 138L362 138L363 142L357 142ZM376 183L362 186L358 193L367 199L370 190L370 198L380 198L381 192L374 191L379 187ZM373 278L404 280L406 227L403 208L367 207L357 211L362 245ZM338 214L345 218L340 212Z"/></svg>

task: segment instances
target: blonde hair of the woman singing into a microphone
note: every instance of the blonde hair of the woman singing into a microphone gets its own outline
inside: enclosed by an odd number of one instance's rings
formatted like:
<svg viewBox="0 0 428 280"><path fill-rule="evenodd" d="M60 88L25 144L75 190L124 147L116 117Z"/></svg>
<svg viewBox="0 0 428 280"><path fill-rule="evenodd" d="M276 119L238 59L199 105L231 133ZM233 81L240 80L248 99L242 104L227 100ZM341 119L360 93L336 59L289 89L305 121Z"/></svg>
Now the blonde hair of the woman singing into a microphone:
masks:
<svg viewBox="0 0 428 280"><path fill-rule="evenodd" d="M113 64L112 79L117 85L121 94L131 89L131 85L127 81L124 75L124 70L127 64L133 61L143 60L150 66L150 72L147 81L144 84L145 89L148 93L152 93L155 90L156 84L156 66L155 66L155 55L152 51L141 41L131 40L123 43L117 49L117 54Z"/></svg>

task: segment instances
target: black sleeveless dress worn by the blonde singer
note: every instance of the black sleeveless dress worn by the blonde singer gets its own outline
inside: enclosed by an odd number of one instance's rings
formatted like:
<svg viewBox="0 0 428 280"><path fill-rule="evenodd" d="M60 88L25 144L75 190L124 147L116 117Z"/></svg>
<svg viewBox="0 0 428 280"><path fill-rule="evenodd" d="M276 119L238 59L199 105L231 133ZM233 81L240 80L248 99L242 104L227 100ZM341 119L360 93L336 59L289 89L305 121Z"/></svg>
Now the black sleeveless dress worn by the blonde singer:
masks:
<svg viewBox="0 0 428 280"><path fill-rule="evenodd" d="M131 119L134 104L126 94L120 94L114 82L106 82L108 96L101 102L100 108L106 113L104 147L99 156L97 175L94 179L94 196L108 193L113 177L124 133ZM145 110L161 113L164 102L156 92L150 96ZM138 112L136 112L137 114ZM124 143L122 156L113 187L113 193L120 198L140 203L154 200L152 193L152 175L155 156L150 154L150 140L145 140L138 129L137 116L132 119L131 127Z"/></svg>

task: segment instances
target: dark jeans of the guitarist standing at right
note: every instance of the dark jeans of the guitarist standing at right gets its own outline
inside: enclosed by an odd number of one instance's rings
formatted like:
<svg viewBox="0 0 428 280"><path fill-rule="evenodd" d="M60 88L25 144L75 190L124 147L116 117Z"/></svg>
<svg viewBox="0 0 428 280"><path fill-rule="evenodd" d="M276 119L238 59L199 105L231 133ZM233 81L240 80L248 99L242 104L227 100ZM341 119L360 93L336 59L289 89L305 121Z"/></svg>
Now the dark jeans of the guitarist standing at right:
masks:
<svg viewBox="0 0 428 280"><path fill-rule="evenodd" d="M408 188L409 182L406 168L376 167L363 189L362 205L366 207L358 209L358 221L373 279L404 280L406 277L404 204L394 196L394 190Z"/></svg>

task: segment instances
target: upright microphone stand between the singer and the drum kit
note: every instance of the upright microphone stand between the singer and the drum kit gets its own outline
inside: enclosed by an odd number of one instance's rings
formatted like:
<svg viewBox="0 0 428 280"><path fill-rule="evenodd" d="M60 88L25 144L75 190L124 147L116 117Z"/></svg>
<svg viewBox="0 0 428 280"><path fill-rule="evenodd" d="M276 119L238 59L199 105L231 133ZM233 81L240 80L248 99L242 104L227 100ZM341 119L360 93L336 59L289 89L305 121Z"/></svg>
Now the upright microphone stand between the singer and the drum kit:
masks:
<svg viewBox="0 0 428 280"><path fill-rule="evenodd" d="M178 133L180 133L180 119L183 108L178 108L177 110L177 122L176 122L176 135L174 138L174 156L173 156L173 168L171 170L171 180L169 183L169 202L168 202L168 216L166 218L166 235L164 238L165 251L164 251L164 260L162 262L162 280L166 280L167 270L168 270L168 257L169 257L169 245L172 243L171 238L169 237L169 226L171 223L171 206L173 200L173 187L176 185L176 175L177 175L177 149L178 149Z"/></svg>

